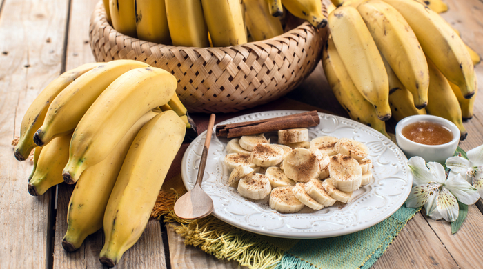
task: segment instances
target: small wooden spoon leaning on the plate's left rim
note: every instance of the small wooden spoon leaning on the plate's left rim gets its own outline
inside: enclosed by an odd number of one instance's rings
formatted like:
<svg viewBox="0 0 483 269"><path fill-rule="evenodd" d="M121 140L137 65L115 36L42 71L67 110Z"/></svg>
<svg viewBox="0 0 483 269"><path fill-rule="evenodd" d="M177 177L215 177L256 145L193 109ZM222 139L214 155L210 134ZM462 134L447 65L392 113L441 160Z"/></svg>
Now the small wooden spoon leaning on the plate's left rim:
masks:
<svg viewBox="0 0 483 269"><path fill-rule="evenodd" d="M205 146L201 153L195 187L193 190L179 197L175 203L175 214L181 219L198 219L206 217L213 212L213 200L201 189L201 181L203 181L206 159L208 158L208 148L210 148L211 133L213 132L214 125L215 114L211 114L210 121L208 122L208 130L206 130Z"/></svg>

